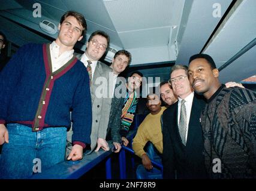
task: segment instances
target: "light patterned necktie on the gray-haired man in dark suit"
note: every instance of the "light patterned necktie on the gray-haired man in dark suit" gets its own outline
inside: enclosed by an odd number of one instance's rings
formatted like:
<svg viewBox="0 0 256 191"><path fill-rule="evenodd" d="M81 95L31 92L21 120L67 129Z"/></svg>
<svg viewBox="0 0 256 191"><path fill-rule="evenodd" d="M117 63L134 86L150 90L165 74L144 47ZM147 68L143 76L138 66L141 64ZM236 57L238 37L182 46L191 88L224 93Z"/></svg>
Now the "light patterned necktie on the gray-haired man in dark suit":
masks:
<svg viewBox="0 0 256 191"><path fill-rule="evenodd" d="M180 119L179 119L179 134L182 140L182 143L186 146L186 106L185 100L181 101L180 106Z"/></svg>

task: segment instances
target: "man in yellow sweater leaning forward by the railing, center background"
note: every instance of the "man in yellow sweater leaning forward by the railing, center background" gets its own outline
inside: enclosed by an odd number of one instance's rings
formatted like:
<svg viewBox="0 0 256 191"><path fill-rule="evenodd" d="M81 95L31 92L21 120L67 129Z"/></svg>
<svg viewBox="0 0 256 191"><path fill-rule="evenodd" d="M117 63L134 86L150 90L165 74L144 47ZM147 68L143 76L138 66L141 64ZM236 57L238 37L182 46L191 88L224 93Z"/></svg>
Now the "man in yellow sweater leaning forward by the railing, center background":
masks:
<svg viewBox="0 0 256 191"><path fill-rule="evenodd" d="M166 107L161 107L161 101L158 95L149 94L147 96L147 108L150 110L150 113L138 127L137 134L133 139L132 149L134 150L135 155L142 159L143 166L147 170L151 170L153 168L151 160L143 148L146 143L150 141L158 152L162 153L160 118Z"/></svg>

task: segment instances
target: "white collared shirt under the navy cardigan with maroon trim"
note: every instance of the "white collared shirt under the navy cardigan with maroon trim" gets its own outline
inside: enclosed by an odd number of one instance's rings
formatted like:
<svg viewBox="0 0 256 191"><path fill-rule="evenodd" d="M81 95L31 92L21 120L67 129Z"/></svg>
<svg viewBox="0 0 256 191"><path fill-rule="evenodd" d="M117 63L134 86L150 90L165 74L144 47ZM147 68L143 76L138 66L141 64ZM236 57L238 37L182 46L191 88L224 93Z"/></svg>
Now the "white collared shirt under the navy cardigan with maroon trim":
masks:
<svg viewBox="0 0 256 191"><path fill-rule="evenodd" d="M52 60L52 72L64 66L74 55L74 50L67 50L59 56L59 45L55 41L50 44L50 55Z"/></svg>

